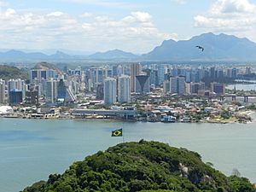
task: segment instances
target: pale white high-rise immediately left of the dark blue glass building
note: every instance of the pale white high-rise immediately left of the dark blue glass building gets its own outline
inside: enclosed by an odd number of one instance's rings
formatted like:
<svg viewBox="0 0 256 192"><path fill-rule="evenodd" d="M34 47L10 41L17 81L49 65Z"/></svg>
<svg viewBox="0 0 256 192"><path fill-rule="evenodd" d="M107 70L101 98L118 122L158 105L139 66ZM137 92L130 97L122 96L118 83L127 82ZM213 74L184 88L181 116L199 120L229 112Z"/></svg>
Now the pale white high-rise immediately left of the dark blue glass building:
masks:
<svg viewBox="0 0 256 192"><path fill-rule="evenodd" d="M57 100L57 81L55 79L49 79L46 82L46 102L54 103Z"/></svg>

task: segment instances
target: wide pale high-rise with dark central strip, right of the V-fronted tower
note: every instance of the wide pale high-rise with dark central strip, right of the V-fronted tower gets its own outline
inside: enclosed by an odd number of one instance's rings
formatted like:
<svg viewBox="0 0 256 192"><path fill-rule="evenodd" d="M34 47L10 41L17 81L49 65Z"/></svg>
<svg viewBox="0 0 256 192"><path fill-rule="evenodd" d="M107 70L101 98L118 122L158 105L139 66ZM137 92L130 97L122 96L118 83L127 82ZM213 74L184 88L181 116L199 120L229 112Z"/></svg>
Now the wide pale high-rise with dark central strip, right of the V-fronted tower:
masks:
<svg viewBox="0 0 256 192"><path fill-rule="evenodd" d="M178 95L185 94L185 78L184 77L171 78L170 92L172 94L177 93Z"/></svg>

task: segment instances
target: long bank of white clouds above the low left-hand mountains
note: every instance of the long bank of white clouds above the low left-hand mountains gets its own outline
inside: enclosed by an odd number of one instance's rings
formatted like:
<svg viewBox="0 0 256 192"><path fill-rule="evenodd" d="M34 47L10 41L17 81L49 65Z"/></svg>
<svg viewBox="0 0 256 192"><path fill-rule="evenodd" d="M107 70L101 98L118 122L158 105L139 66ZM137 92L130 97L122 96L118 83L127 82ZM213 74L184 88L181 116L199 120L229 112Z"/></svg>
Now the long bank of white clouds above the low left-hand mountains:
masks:
<svg viewBox="0 0 256 192"><path fill-rule="evenodd" d="M144 53L176 34L161 32L152 15L135 11L123 18L67 15L4 9L0 12L0 44L6 49L125 49ZM3 48L3 47L0 47Z"/></svg>

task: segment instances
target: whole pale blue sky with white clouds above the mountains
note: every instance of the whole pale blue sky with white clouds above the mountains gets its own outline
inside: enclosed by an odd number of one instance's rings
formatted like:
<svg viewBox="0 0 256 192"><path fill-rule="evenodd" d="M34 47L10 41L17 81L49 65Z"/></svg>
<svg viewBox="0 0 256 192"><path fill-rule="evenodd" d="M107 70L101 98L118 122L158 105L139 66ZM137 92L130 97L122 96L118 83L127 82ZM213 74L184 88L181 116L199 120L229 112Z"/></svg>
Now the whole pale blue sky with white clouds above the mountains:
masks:
<svg viewBox="0 0 256 192"><path fill-rule="evenodd" d="M256 0L0 0L0 49L122 49L224 32L256 42Z"/></svg>

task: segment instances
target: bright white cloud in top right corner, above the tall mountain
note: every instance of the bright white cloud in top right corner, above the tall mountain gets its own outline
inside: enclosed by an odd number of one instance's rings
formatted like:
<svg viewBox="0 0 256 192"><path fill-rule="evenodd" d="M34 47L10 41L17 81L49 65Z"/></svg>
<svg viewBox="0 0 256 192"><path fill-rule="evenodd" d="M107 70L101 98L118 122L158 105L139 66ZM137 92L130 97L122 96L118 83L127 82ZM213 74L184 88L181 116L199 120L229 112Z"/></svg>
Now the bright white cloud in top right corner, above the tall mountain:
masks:
<svg viewBox="0 0 256 192"><path fill-rule="evenodd" d="M218 0L207 13L195 16L194 20L197 27L242 36L256 26L256 5L248 0Z"/></svg>

